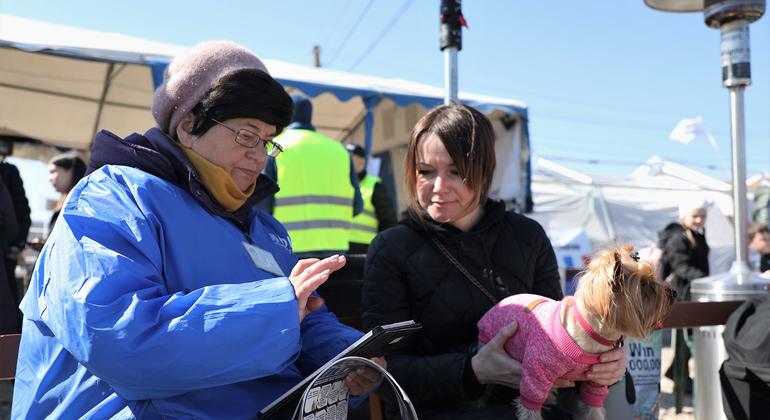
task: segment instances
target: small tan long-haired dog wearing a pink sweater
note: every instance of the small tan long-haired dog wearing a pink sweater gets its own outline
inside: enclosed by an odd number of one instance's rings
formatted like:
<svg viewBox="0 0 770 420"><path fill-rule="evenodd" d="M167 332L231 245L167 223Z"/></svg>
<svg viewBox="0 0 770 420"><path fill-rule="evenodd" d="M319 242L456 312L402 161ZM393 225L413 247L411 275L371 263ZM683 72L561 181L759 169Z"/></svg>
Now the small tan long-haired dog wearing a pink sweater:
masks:
<svg viewBox="0 0 770 420"><path fill-rule="evenodd" d="M626 245L600 251L584 270L574 297L510 296L479 321L483 345L516 320L519 330L505 351L522 364L519 419L540 419L540 408L556 379L584 380L600 353L622 345L623 337L643 338L660 326L676 293L655 277ZM604 419L607 387L582 382L583 418Z"/></svg>

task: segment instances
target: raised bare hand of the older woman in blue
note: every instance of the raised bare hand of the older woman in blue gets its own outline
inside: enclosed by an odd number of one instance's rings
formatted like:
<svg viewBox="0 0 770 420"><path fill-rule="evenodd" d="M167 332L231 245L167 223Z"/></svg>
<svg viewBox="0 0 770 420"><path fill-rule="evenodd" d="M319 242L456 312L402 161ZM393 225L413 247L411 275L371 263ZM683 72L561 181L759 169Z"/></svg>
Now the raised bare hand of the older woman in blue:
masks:
<svg viewBox="0 0 770 420"><path fill-rule="evenodd" d="M310 294L329 279L329 274L342 268L345 262L345 257L340 255L334 255L323 260L307 258L297 261L291 270L289 281L294 286L294 294L297 296L300 322L305 319L307 314L323 305L323 299L310 296Z"/></svg>

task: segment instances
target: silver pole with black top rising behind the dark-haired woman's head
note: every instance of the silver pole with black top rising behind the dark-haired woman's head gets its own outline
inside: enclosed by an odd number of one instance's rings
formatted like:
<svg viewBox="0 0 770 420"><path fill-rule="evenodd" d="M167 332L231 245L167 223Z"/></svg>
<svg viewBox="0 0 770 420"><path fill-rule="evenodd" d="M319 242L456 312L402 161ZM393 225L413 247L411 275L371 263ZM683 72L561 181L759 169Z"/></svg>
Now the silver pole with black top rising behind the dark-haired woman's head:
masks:
<svg viewBox="0 0 770 420"><path fill-rule="evenodd" d="M461 0L441 0L440 48L444 52L444 104L457 102L457 52L463 48L462 27L468 27Z"/></svg>

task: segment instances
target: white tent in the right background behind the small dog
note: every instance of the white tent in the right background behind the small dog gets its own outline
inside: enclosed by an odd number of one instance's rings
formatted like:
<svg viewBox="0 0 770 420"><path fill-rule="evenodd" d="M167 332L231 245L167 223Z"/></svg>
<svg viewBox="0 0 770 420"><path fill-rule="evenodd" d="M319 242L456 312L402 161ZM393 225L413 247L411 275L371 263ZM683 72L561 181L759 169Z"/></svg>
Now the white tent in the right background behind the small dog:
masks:
<svg viewBox="0 0 770 420"><path fill-rule="evenodd" d="M674 162L653 157L630 175L589 176L536 158L532 194L535 206L529 216L543 225L553 243L564 246L563 232L584 229L593 249L613 243L637 249L656 244L658 231L677 221L679 203L702 198L710 203L706 240L711 271L727 271L733 260L729 184Z"/></svg>

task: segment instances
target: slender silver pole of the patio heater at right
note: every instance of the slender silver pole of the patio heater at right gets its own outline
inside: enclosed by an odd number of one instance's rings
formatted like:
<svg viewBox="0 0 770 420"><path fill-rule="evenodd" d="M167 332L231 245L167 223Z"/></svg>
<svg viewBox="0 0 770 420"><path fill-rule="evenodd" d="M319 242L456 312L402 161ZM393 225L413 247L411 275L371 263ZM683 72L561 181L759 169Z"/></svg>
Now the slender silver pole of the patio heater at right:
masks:
<svg viewBox="0 0 770 420"><path fill-rule="evenodd" d="M746 244L746 146L743 118L744 86L730 88L730 136L733 151L733 211L735 222L735 260L747 264ZM743 283L738 277L738 284Z"/></svg>

